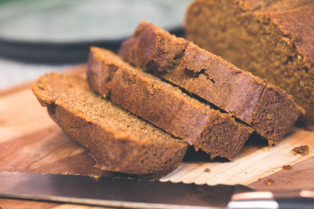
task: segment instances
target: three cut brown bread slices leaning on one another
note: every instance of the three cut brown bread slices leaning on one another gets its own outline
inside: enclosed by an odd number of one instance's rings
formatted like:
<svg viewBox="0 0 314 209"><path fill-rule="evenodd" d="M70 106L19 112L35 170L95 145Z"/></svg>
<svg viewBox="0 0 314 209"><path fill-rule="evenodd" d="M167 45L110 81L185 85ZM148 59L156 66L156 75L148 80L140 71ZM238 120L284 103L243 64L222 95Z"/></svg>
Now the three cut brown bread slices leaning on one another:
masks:
<svg viewBox="0 0 314 209"><path fill-rule="evenodd" d="M276 144L304 113L281 88L152 24L119 55L90 48L84 74L46 74L42 106L102 170L159 178L189 145L232 160L252 132Z"/></svg>

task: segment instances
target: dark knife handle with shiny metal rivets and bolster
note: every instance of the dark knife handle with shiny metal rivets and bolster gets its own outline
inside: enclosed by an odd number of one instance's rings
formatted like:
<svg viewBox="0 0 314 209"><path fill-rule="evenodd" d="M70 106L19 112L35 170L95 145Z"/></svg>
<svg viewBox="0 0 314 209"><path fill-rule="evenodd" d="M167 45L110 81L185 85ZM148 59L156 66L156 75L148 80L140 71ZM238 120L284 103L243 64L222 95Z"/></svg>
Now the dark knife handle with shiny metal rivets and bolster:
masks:
<svg viewBox="0 0 314 209"><path fill-rule="evenodd" d="M228 209L313 209L314 191L244 192L232 195Z"/></svg>

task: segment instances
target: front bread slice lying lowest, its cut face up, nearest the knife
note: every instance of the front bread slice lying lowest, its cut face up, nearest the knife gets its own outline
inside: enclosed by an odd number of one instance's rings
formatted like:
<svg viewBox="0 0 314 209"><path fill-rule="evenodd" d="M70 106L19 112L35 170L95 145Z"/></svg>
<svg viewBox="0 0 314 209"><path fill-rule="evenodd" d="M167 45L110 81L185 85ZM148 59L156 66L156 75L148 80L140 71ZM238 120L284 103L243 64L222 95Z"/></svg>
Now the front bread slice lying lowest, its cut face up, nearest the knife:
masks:
<svg viewBox="0 0 314 209"><path fill-rule="evenodd" d="M186 142L95 94L85 73L46 74L32 90L101 170L158 178L177 168L187 151Z"/></svg>

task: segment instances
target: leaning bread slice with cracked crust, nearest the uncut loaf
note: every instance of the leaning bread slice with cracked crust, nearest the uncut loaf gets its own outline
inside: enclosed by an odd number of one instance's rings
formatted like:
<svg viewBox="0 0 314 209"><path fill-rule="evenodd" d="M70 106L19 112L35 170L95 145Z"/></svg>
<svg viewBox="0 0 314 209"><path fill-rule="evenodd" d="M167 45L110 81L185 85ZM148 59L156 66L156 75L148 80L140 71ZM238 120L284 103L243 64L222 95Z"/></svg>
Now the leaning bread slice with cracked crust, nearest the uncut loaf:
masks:
<svg viewBox="0 0 314 209"><path fill-rule="evenodd" d="M269 144L282 139L303 111L284 90L146 22L121 45L120 55L231 113Z"/></svg>

